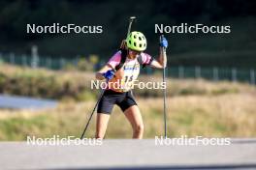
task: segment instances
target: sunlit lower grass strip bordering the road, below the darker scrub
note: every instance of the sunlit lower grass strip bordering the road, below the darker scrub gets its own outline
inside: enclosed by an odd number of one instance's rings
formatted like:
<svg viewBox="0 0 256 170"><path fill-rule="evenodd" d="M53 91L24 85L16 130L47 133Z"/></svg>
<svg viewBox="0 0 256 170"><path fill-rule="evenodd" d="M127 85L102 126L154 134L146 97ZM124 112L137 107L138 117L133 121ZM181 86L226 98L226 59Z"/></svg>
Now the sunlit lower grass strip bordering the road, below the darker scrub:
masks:
<svg viewBox="0 0 256 170"><path fill-rule="evenodd" d="M246 102L244 102L246 101ZM256 99L250 94L169 98L168 135L205 137L255 137ZM138 99L144 118L144 138L163 134L162 99ZM94 102L62 102L42 111L0 110L0 140L25 140L26 136L77 136L87 122ZM86 132L93 137L95 117ZM131 138L132 128L114 107L106 138Z"/></svg>

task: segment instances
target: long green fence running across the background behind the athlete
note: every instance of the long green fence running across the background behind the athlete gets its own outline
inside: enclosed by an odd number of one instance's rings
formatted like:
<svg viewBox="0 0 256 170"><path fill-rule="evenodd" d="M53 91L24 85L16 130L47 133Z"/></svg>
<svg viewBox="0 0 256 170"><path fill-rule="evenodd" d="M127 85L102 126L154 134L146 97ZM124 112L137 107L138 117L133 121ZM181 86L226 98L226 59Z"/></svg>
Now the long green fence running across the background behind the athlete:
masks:
<svg viewBox="0 0 256 170"><path fill-rule="evenodd" d="M0 54L0 62L9 63L12 65L19 65L24 67L41 67L48 68L50 70L62 70L65 67L74 66L78 67L80 58L67 59L67 58L51 58L51 57L32 57L28 55L15 55L10 54ZM102 62L104 63L104 62ZM94 67L98 70L102 64L98 64ZM157 72L150 68L145 68L142 70L144 74L152 74ZM171 67L167 70L167 75L174 78L205 78L208 80L219 81L219 80L229 80L229 81L241 81L250 84L256 84L256 70L255 69L239 69L239 68L205 68L200 66L195 67Z"/></svg>

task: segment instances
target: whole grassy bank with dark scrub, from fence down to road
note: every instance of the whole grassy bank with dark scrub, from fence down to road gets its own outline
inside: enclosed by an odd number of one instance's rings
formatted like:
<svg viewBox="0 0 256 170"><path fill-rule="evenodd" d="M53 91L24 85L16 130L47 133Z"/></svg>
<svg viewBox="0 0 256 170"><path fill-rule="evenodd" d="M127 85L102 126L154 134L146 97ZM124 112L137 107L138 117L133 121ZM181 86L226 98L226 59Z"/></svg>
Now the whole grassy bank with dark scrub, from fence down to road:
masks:
<svg viewBox="0 0 256 170"><path fill-rule="evenodd" d="M48 94L60 99L57 108L47 110L0 109L0 140L25 140L26 136L80 137L98 92L85 88L92 72L30 70L3 66L0 85L4 92ZM18 78L16 78L18 77ZM22 78L20 78L22 77ZM7 81L2 81L7 78ZM141 80L161 81L157 76ZM6 89L5 89L6 88ZM56 93L57 92L57 93ZM144 118L144 137L163 134L161 90L134 91ZM256 136L256 89L254 86L203 79L168 79L168 134L203 136ZM81 102L80 102L81 101ZM95 118L86 133L93 137ZM114 108L107 138L131 138L132 128L119 108Z"/></svg>

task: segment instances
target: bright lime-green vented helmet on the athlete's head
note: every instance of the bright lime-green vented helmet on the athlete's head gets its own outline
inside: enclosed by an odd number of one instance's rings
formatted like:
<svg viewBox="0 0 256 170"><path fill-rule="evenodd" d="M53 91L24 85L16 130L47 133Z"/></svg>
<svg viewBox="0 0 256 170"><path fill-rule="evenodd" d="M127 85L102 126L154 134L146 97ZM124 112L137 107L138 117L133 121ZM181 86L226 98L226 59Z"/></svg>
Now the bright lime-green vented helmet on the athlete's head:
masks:
<svg viewBox="0 0 256 170"><path fill-rule="evenodd" d="M146 48L144 34L138 31L131 32L126 39L126 44L130 49L144 51Z"/></svg>

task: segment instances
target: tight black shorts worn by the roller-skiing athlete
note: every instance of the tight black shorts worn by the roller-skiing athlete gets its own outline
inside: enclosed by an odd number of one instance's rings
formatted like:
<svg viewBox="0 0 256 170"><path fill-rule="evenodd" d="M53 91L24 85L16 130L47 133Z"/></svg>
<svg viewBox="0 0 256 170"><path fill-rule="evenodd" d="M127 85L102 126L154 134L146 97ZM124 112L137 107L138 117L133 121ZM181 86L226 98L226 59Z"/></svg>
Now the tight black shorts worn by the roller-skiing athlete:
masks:
<svg viewBox="0 0 256 170"><path fill-rule="evenodd" d="M118 93L112 90L106 90L99 102L97 113L111 114L114 104L118 105L123 112L130 106L137 105L131 91Z"/></svg>

